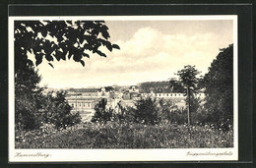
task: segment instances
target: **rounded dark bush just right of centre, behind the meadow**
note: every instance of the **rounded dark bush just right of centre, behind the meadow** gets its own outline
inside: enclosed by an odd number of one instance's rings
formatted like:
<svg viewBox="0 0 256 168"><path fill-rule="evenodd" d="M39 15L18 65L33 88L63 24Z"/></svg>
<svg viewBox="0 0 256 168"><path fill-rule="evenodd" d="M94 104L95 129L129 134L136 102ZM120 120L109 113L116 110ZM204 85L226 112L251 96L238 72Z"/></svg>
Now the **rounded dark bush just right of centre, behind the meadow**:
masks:
<svg viewBox="0 0 256 168"><path fill-rule="evenodd" d="M134 120L145 124L155 124L158 122L158 104L156 98L147 97L139 99L135 103Z"/></svg>

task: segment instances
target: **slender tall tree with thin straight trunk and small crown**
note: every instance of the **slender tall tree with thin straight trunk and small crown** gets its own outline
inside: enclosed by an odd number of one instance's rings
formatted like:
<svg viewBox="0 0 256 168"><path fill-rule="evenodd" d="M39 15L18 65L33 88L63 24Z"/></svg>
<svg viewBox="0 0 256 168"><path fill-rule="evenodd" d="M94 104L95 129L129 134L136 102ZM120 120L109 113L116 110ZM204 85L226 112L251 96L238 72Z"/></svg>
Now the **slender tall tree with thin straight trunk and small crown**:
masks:
<svg viewBox="0 0 256 168"><path fill-rule="evenodd" d="M187 65L184 69L178 71L177 75L179 76L179 81L181 85L187 90L187 115L188 115L188 125L190 125L190 112L191 112L191 97L193 93L197 91L197 84L199 79L197 76L200 74L198 70L196 70L195 66Z"/></svg>

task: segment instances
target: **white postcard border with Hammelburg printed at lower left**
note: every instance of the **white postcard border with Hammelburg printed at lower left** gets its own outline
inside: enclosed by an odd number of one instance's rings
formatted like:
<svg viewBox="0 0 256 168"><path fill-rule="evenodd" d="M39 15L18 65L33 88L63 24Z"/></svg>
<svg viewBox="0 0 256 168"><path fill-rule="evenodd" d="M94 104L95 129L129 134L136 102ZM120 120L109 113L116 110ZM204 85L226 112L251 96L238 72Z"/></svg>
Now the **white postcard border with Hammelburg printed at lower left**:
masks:
<svg viewBox="0 0 256 168"><path fill-rule="evenodd" d="M14 105L14 21L104 20L104 21L233 21L233 147L172 149L16 149ZM71 161L230 161L238 160L238 47L237 16L87 16L9 17L9 162Z"/></svg>

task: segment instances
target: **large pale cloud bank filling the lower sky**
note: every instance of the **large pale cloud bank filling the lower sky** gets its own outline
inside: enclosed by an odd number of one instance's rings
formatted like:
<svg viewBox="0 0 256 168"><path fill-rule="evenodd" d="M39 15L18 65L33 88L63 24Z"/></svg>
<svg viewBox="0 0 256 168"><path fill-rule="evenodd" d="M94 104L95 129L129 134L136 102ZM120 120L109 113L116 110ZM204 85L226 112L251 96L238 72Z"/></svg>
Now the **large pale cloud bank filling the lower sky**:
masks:
<svg viewBox="0 0 256 168"><path fill-rule="evenodd" d="M139 28L128 40L114 43L120 50L93 55L84 59L86 66L72 61L54 62L54 69L45 62L39 66L42 84L52 87L109 84L137 84L168 80L185 65L195 65L207 72L219 48L231 41L214 32L164 33L155 28Z"/></svg>

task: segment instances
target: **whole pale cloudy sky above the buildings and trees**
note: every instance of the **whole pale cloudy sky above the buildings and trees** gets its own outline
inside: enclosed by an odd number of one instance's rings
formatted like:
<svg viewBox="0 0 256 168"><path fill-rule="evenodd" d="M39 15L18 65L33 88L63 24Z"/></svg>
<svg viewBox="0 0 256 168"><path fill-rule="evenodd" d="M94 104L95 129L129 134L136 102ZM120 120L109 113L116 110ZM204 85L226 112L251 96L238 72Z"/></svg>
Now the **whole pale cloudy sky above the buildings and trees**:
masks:
<svg viewBox="0 0 256 168"><path fill-rule="evenodd" d="M44 60L38 66L40 85L53 88L131 85L167 81L186 65L204 75L221 48L233 43L231 20L215 21L106 21L110 41L120 50L107 57L84 58L85 67L73 60Z"/></svg>

